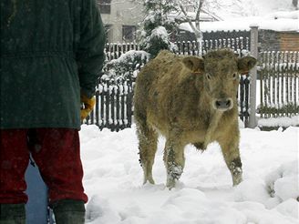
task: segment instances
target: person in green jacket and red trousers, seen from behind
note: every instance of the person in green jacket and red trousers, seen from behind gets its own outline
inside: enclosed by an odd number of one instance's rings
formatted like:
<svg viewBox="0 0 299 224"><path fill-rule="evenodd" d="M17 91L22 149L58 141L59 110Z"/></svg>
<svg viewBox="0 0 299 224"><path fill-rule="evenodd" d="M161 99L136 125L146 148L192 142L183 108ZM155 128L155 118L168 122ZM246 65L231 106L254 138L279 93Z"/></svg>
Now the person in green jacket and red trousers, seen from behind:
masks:
<svg viewBox="0 0 299 224"><path fill-rule="evenodd" d="M26 221L29 152L57 224L84 223L78 130L94 107L105 60L98 6L1 0L0 16L0 223Z"/></svg>

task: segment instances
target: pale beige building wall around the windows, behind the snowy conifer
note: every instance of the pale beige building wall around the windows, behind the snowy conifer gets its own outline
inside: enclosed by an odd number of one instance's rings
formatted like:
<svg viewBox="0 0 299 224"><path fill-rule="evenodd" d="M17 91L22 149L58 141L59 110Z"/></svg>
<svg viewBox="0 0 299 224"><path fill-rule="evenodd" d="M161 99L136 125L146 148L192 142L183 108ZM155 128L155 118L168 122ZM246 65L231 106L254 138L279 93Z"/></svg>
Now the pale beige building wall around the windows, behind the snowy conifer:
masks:
<svg viewBox="0 0 299 224"><path fill-rule="evenodd" d="M109 26L108 42L122 43L123 25L136 25L142 21L142 5L132 0L112 0L111 13L101 14L104 25Z"/></svg>

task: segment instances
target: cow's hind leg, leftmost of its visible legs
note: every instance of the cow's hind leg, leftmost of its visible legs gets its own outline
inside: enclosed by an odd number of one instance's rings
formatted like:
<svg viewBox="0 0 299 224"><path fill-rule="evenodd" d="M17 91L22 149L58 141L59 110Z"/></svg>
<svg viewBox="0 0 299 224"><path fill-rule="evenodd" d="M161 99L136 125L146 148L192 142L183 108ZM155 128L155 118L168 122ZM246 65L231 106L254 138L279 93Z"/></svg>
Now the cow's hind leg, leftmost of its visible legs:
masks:
<svg viewBox="0 0 299 224"><path fill-rule="evenodd" d="M154 164L157 151L158 134L148 127L145 121L137 123L137 134L139 137L139 162L143 169L144 181L155 184L152 178L152 165Z"/></svg>

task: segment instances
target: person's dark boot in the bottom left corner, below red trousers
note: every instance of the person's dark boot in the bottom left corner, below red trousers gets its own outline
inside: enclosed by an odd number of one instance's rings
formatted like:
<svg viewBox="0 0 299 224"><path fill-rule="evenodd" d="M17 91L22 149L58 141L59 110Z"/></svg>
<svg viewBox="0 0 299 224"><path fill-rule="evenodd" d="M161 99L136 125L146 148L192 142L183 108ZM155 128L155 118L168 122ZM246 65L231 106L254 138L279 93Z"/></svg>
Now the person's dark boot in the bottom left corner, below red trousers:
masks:
<svg viewBox="0 0 299 224"><path fill-rule="evenodd" d="M25 224L25 204L0 204L1 224Z"/></svg>

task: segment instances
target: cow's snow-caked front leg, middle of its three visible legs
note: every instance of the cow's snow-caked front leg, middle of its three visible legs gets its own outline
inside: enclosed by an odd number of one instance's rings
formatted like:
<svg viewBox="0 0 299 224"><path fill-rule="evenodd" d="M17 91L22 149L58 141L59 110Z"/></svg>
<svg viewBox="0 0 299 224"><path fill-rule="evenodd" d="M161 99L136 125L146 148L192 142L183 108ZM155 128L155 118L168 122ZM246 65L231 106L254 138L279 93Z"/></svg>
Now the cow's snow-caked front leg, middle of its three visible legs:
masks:
<svg viewBox="0 0 299 224"><path fill-rule="evenodd" d="M185 166L184 147L178 139L167 139L164 149L164 163L167 169L167 188L174 188Z"/></svg>

